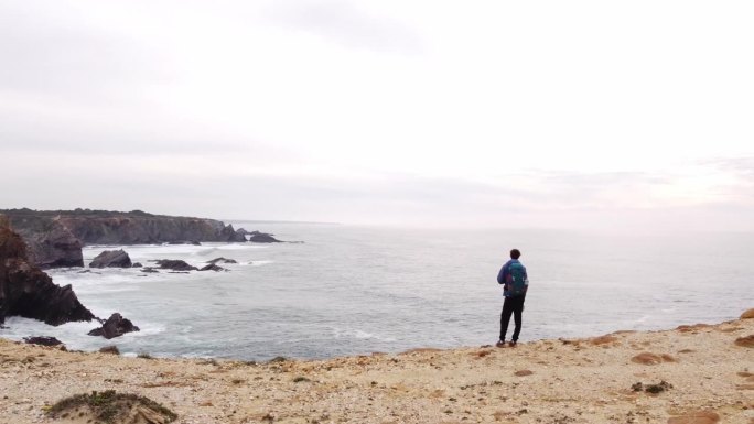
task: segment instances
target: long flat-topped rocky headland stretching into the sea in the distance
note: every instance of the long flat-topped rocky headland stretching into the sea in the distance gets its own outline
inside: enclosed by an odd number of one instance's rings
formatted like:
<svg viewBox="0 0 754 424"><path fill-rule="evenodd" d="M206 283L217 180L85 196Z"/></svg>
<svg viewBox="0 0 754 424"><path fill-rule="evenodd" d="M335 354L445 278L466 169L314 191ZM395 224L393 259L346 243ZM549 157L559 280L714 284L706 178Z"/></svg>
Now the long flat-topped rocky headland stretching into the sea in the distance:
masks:
<svg viewBox="0 0 754 424"><path fill-rule="evenodd" d="M41 268L83 267L83 244L246 241L244 232L214 219L108 210L0 210Z"/></svg>

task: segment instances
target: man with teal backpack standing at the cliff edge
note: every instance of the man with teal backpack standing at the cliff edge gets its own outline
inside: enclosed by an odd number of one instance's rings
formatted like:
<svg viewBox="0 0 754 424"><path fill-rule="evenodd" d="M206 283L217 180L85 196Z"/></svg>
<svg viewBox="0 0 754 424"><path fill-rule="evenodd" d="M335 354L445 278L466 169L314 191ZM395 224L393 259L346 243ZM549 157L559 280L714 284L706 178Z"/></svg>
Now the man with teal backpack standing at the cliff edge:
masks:
<svg viewBox="0 0 754 424"><path fill-rule="evenodd" d="M518 249L510 251L510 260L506 262L497 274L497 283L503 284L503 313L500 314L500 339L497 347L505 346L505 335L508 333L510 315L514 316L516 329L510 338L510 347L516 346L518 335L521 333L521 313L524 312L524 300L526 291L529 289L529 278L526 274L526 267L518 260L521 252Z"/></svg>

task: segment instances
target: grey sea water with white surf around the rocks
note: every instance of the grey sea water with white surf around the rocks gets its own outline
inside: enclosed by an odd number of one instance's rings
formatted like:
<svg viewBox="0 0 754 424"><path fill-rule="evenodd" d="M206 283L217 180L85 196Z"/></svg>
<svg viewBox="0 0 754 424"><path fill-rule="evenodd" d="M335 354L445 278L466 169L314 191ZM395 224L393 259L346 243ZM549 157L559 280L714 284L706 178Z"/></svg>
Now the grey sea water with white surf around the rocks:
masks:
<svg viewBox="0 0 754 424"><path fill-rule="evenodd" d="M520 341L718 323L754 307L754 235L600 235L557 230L411 230L234 222L301 243L88 246L132 261L224 257L227 272L58 269L103 318L140 327L111 340L96 323L52 327L11 317L0 337L54 336L69 349L267 360L494 344L503 304L497 272L521 250L530 289ZM513 326L513 323L511 323ZM510 327L509 331L513 331Z"/></svg>

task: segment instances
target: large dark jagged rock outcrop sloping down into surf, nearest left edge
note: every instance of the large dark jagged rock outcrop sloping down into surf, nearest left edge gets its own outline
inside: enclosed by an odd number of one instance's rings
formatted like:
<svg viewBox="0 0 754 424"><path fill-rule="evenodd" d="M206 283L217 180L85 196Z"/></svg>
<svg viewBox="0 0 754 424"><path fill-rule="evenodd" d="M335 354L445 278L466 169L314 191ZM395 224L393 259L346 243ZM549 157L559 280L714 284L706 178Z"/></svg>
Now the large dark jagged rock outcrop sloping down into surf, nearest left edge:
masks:
<svg viewBox="0 0 754 424"><path fill-rule="evenodd" d="M31 263L24 241L9 224L0 215L0 324L7 316L40 319L54 326L91 320L95 316L82 305L71 285L54 284Z"/></svg>

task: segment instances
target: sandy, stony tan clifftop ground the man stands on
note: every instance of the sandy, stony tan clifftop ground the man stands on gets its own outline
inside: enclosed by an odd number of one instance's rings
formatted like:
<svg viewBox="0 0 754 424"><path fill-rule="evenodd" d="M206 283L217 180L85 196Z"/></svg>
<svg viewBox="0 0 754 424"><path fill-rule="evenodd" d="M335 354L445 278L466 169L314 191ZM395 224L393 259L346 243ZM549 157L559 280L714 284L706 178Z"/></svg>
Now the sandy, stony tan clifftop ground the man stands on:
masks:
<svg viewBox="0 0 754 424"><path fill-rule="evenodd" d="M661 381L671 387L645 391ZM0 423L86 423L87 415L53 420L45 410L94 390L144 395L177 413L176 423L196 424L754 424L754 319L515 348L266 363L0 340Z"/></svg>

